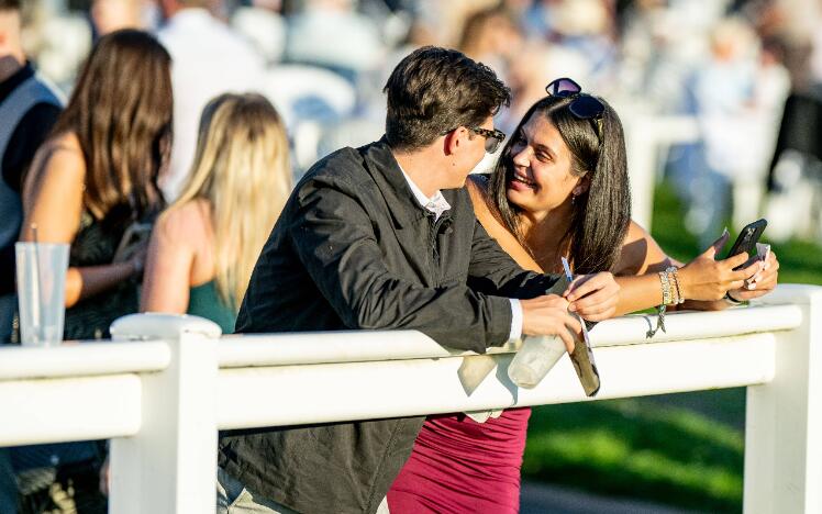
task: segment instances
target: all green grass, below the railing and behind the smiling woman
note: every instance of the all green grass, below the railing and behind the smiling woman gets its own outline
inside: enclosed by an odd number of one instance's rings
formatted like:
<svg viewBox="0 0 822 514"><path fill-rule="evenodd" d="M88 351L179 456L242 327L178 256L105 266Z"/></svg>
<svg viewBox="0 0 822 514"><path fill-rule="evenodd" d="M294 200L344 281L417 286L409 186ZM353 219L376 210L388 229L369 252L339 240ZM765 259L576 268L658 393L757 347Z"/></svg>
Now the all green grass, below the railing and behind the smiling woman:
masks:
<svg viewBox="0 0 822 514"><path fill-rule="evenodd" d="M671 256L699 252L673 190L657 189L652 233ZM766 232L767 234L767 232ZM780 282L822 284L822 248L773 245ZM745 390L726 389L534 409L527 480L707 512L742 511Z"/></svg>

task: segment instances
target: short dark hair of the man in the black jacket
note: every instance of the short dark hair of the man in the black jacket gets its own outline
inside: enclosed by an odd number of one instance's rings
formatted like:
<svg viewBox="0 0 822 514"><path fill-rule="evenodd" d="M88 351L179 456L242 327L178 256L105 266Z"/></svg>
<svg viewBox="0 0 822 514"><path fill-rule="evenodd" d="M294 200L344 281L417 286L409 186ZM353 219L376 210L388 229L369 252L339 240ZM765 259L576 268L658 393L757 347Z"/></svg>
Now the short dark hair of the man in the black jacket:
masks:
<svg viewBox="0 0 822 514"><path fill-rule="evenodd" d="M402 59L382 89L386 138L415 150L458 126L480 125L511 102L511 90L488 66L464 54L424 46Z"/></svg>

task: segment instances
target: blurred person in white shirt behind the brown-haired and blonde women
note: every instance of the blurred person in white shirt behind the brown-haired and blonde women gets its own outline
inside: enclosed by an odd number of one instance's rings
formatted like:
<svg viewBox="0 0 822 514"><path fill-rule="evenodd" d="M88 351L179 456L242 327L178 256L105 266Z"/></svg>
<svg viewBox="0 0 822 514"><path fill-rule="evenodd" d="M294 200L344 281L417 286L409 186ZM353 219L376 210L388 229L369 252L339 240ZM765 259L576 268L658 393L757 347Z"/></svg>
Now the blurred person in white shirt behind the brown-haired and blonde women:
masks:
<svg viewBox="0 0 822 514"><path fill-rule="evenodd" d="M180 192L197 144L197 123L209 100L223 92L257 91L264 62L254 47L212 13L213 0L159 0L165 24L157 37L174 58L175 141L160 179L166 200Z"/></svg>

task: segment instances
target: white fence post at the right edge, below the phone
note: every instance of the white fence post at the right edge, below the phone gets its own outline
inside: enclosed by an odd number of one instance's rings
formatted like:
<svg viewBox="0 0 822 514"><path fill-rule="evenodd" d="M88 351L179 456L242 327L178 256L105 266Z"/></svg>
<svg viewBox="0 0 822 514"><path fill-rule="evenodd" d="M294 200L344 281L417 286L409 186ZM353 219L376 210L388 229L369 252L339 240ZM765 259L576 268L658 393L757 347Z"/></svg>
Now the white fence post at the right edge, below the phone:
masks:
<svg viewBox="0 0 822 514"><path fill-rule="evenodd" d="M782 286L780 293L803 320L776 333L774 380L747 388L746 514L822 512L822 290Z"/></svg>

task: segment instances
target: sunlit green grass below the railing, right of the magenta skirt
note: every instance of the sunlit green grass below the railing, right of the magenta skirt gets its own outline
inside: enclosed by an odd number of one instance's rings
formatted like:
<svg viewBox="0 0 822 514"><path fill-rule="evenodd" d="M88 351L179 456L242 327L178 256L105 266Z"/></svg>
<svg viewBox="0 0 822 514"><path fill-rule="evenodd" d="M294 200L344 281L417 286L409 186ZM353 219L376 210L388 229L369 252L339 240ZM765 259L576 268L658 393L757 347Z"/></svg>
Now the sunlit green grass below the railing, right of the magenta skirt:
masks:
<svg viewBox="0 0 822 514"><path fill-rule="evenodd" d="M652 399L542 406L523 476L711 512L738 511L743 435Z"/></svg>

